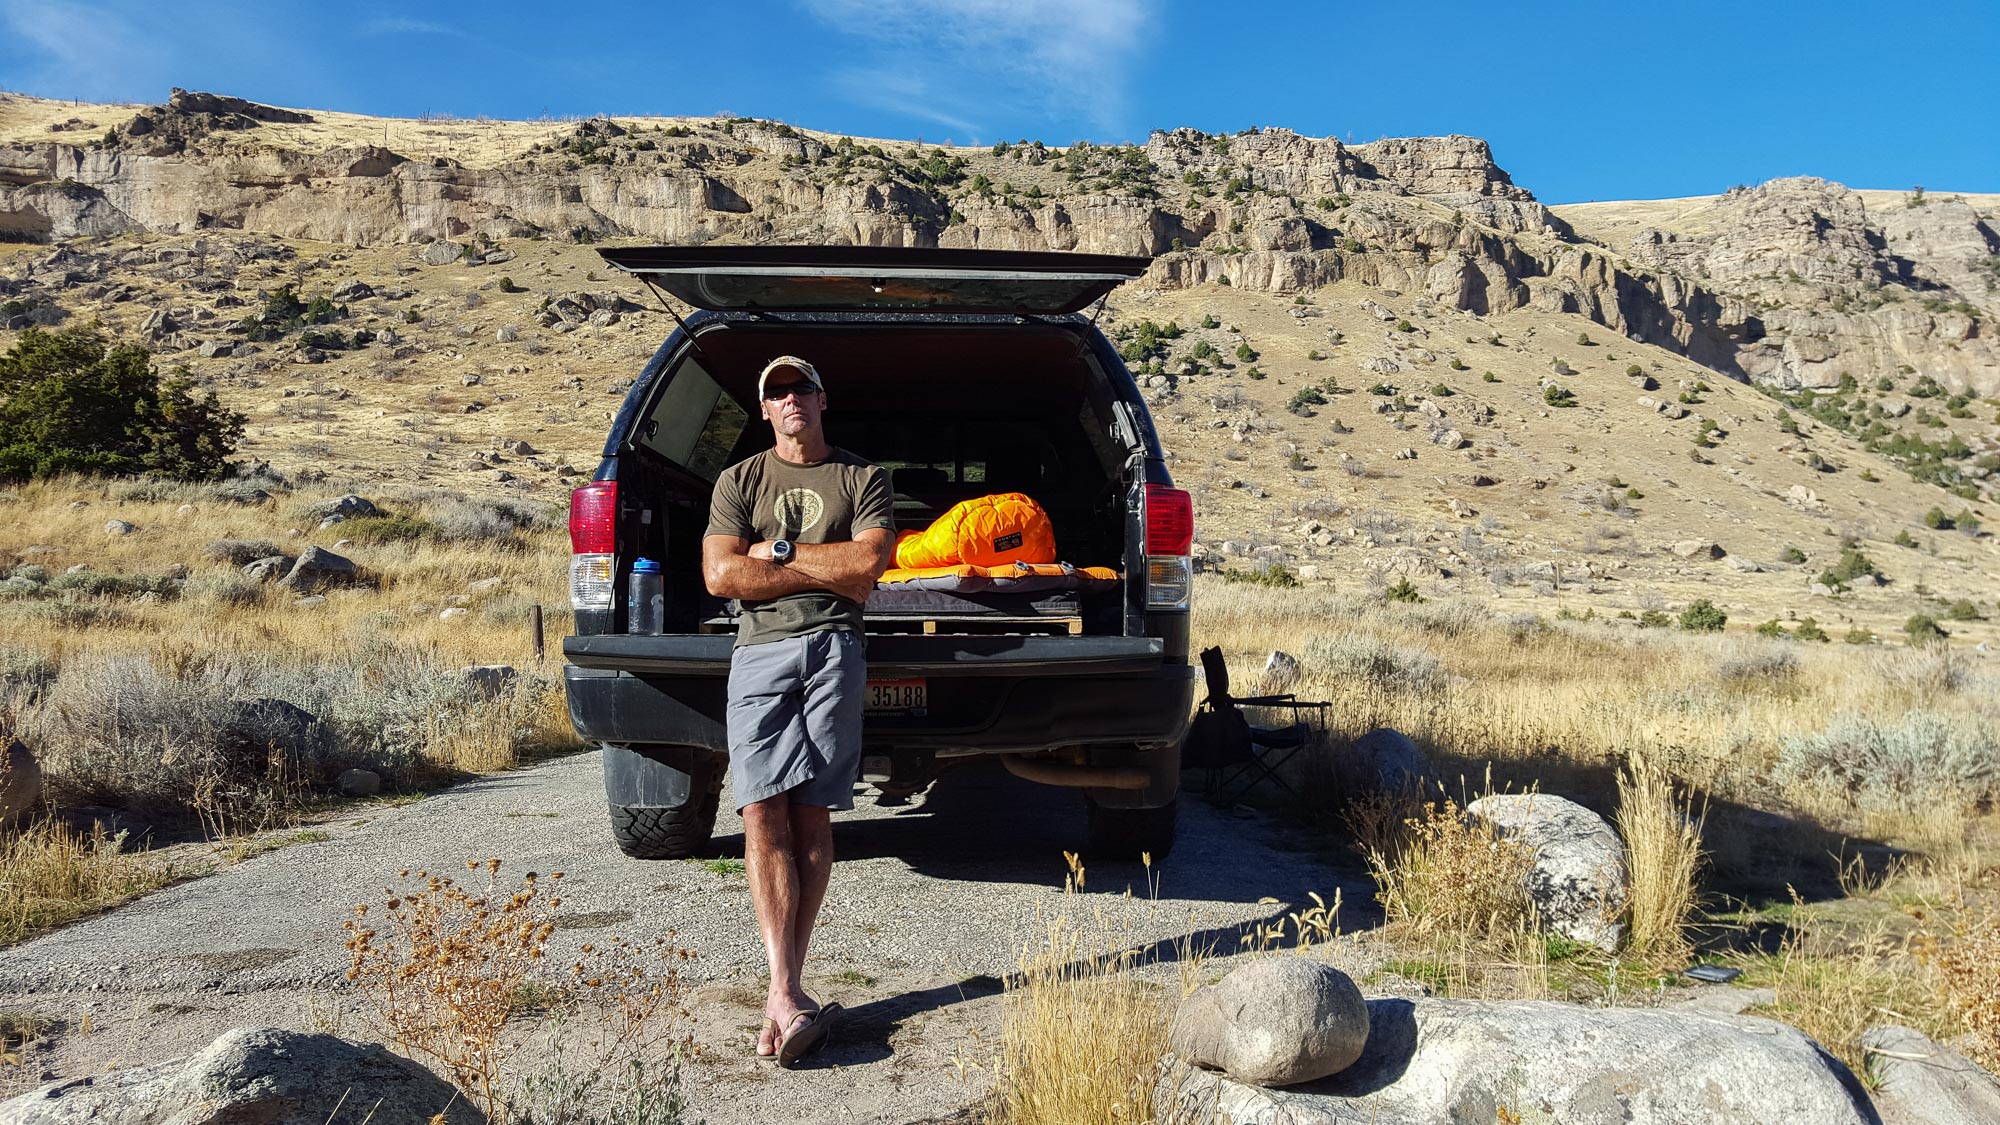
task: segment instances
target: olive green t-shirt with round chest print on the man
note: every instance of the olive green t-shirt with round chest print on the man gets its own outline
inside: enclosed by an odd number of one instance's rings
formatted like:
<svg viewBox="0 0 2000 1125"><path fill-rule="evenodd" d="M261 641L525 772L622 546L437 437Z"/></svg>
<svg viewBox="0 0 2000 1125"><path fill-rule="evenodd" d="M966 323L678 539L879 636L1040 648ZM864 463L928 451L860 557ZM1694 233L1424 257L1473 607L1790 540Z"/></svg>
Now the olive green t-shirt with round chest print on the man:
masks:
<svg viewBox="0 0 2000 1125"><path fill-rule="evenodd" d="M844 448L812 464L794 464L768 448L724 468L708 502L708 534L738 534L750 542L852 542L878 526L896 530L888 472ZM824 631L860 633L862 607L830 591L746 601L736 643L762 645Z"/></svg>

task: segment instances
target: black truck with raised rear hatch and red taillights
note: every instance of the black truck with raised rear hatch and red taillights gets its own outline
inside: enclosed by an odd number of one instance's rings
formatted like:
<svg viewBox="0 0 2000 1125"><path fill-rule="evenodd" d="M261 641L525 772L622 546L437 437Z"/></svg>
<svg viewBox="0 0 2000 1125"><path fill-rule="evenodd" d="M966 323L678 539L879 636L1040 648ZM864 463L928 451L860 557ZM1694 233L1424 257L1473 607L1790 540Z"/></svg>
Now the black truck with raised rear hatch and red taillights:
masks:
<svg viewBox="0 0 2000 1125"><path fill-rule="evenodd" d="M1026 492L1064 562L1118 573L1088 591L878 589L856 781L898 801L954 759L998 755L1020 777L1082 789L1094 851L1164 855L1194 693L1194 510L1132 374L1084 314L1148 260L868 246L602 254L698 308L640 372L596 480L570 504L564 681L578 735L604 749L618 847L676 859L714 833L736 619L702 585L708 494L722 468L772 444L756 374L796 354L826 376L828 440L890 468L898 530L958 500ZM636 558L662 567L664 635L628 633Z"/></svg>

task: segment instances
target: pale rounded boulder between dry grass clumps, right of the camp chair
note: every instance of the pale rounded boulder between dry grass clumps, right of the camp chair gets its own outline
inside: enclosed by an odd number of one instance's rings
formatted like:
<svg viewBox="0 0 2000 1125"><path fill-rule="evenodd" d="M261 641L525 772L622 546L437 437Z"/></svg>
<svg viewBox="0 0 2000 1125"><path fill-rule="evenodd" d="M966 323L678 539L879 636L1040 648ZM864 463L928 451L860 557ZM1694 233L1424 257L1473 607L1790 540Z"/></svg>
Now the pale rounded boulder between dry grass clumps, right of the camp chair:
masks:
<svg viewBox="0 0 2000 1125"><path fill-rule="evenodd" d="M1466 815L1534 851L1528 893L1556 933L1618 951L1626 905L1624 845L1590 809L1552 793L1494 793Z"/></svg>

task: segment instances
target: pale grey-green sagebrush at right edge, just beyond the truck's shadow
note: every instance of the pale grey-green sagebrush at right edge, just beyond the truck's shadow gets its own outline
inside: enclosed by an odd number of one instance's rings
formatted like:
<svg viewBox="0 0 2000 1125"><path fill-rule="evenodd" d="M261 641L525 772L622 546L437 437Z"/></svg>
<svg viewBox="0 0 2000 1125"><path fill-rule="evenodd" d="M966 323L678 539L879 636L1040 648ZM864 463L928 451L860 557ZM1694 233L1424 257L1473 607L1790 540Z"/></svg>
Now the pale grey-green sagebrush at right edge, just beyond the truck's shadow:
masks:
<svg viewBox="0 0 2000 1125"><path fill-rule="evenodd" d="M2000 795L2000 743L1982 725L1926 711L1886 723L1842 715L1780 739L1778 773L1864 809L1968 807Z"/></svg>

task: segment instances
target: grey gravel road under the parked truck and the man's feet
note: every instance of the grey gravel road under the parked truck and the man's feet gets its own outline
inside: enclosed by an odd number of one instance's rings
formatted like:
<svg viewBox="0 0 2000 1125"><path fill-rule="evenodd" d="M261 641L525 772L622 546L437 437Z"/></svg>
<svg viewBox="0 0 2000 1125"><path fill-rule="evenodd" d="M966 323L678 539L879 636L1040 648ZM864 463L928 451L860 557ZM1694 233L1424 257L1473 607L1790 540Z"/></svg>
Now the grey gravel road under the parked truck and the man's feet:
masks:
<svg viewBox="0 0 2000 1125"><path fill-rule="evenodd" d="M728 797L724 797L728 805ZM700 861L642 863L612 847L596 755L488 777L424 801L356 805L294 843L218 875L168 887L108 915L0 951L6 1007L62 1019L70 1033L36 1073L78 1077L188 1053L238 1023L310 1027L346 1019L342 919L380 901L400 869L464 873L500 857L502 877L564 871L550 955L584 941L676 931L698 951L690 1007L702 1061L688 1087L714 1125L752 1119L946 1121L986 1091L998 1047L998 985L1022 941L1064 901L1064 851L1082 843L1082 799L988 765L948 773L906 807L866 799L834 821L838 863L808 961L808 989L848 1009L830 1049L784 1073L750 1055L762 1007L762 949L740 873ZM724 811L714 853L742 855ZM1086 903L1138 947L1180 939L1238 947L1246 925L1340 889L1354 871L1282 847L1264 819L1182 803L1180 839L1148 893L1138 863L1088 869ZM1134 901L1126 901L1130 887ZM1158 943L1158 945L1154 945ZM88 1031L86 1031L88 1029ZM32 1081L36 1073L28 1073ZM12 1081L20 1087L22 1081Z"/></svg>

